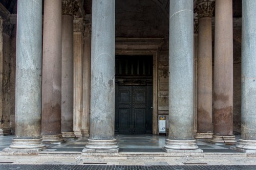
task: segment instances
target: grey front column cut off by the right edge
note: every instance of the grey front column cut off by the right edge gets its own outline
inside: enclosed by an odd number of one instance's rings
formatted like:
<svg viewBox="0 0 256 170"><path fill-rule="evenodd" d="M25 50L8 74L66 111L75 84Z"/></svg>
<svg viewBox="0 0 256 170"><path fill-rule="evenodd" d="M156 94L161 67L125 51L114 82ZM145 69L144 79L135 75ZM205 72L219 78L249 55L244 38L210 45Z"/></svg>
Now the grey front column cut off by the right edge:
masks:
<svg viewBox="0 0 256 170"><path fill-rule="evenodd" d="M256 1L242 4L242 108L241 139L236 147L256 153Z"/></svg>

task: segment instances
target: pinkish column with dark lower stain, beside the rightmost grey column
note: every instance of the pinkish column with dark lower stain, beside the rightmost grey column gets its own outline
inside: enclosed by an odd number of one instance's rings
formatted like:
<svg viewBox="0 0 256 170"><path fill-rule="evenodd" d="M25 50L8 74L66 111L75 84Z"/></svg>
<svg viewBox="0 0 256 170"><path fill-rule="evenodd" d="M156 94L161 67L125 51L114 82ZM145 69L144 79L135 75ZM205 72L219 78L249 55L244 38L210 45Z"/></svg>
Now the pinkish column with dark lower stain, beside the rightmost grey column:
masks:
<svg viewBox="0 0 256 170"><path fill-rule="evenodd" d="M216 0L214 59L214 135L212 142L236 142L233 135L232 0Z"/></svg>

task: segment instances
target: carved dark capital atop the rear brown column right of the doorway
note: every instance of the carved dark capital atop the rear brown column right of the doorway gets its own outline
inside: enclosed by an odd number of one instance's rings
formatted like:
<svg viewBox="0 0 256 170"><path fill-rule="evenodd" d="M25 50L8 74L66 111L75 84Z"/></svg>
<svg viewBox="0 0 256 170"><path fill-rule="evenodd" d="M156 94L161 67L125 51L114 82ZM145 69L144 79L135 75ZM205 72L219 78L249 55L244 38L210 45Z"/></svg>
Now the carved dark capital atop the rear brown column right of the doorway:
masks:
<svg viewBox="0 0 256 170"><path fill-rule="evenodd" d="M198 0L195 11L198 13L198 18L209 16L212 17L215 8L215 0Z"/></svg>

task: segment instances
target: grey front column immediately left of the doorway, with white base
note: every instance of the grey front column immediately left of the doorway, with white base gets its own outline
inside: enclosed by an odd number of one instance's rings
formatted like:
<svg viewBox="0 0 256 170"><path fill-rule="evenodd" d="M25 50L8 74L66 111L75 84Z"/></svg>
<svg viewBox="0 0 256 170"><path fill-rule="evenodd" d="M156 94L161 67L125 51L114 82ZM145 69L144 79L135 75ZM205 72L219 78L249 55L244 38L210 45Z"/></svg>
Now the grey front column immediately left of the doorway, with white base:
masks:
<svg viewBox="0 0 256 170"><path fill-rule="evenodd" d="M90 138L83 152L118 152L115 123L115 1L93 1Z"/></svg>

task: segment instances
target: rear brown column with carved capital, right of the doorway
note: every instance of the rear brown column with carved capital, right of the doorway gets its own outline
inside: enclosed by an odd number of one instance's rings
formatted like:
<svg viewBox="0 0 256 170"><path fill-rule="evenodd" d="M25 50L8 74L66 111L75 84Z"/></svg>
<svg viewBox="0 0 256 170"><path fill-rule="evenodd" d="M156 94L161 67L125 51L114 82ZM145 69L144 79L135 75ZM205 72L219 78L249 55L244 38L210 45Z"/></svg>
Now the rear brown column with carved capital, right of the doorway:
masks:
<svg viewBox="0 0 256 170"><path fill-rule="evenodd" d="M212 44L211 17L213 0L197 1L198 72L197 72L197 134L195 138L212 138Z"/></svg>

